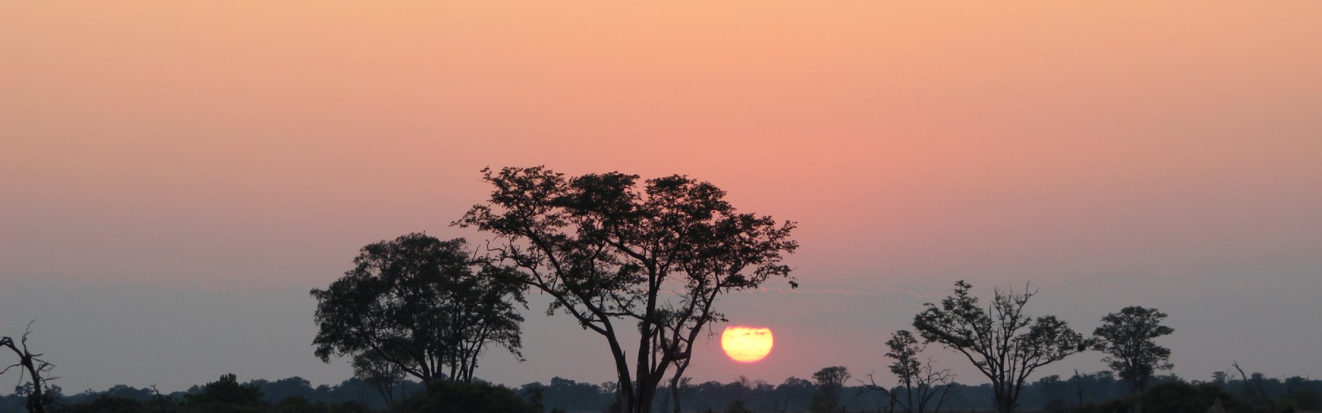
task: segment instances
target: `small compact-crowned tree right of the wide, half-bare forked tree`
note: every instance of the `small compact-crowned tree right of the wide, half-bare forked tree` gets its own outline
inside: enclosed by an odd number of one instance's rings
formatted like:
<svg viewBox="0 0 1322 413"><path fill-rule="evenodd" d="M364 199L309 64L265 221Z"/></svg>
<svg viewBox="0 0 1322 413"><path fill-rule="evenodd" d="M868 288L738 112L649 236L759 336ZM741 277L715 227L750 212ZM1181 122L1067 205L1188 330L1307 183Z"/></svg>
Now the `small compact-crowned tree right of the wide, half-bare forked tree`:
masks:
<svg viewBox="0 0 1322 413"><path fill-rule="evenodd" d="M1130 306L1101 318L1101 327L1092 332L1093 349L1107 355L1101 361L1129 384L1132 394L1147 389L1154 372L1174 367L1170 348L1153 342L1175 331L1161 324L1165 318L1157 308Z"/></svg>

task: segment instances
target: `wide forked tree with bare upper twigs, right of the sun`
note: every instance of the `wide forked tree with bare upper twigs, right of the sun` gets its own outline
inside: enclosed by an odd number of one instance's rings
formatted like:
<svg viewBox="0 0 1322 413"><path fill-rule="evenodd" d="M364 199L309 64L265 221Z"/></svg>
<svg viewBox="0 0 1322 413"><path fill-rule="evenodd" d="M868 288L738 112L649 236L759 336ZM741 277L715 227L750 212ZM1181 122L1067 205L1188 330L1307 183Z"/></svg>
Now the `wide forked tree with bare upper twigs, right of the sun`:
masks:
<svg viewBox="0 0 1322 413"><path fill-rule="evenodd" d="M972 287L958 281L954 295L940 304L925 303L927 310L914 316L914 328L928 343L941 343L968 357L992 381L997 412L1014 412L1032 371L1091 344L1064 320L1025 315L1023 307L1036 290L1017 294L995 289L984 308L969 295Z"/></svg>

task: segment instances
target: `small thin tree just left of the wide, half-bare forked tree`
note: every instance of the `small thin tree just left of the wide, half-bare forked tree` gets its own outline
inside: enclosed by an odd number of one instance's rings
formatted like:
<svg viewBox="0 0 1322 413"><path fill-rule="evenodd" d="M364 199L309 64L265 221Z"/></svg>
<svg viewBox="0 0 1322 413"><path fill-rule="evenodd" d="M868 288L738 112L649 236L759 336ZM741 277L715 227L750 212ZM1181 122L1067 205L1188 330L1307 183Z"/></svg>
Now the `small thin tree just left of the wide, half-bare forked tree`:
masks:
<svg viewBox="0 0 1322 413"><path fill-rule="evenodd" d="M920 343L908 330L892 332L886 348L888 349L886 357L894 360L890 369L899 380L899 385L894 389L880 387L873 380L873 375L867 375L870 381L867 388L884 392L904 412L924 413L929 406L932 412L940 412L954 375L949 369L937 369L936 359L931 356L927 360L919 359L927 344ZM936 404L931 405L933 397Z"/></svg>

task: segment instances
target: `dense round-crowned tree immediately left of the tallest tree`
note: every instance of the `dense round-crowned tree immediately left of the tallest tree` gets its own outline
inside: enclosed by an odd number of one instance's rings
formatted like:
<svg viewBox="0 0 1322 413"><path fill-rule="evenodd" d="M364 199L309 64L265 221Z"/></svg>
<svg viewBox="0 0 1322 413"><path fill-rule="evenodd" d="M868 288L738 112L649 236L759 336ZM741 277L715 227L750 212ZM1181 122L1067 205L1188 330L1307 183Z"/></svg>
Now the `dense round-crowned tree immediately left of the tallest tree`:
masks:
<svg viewBox="0 0 1322 413"><path fill-rule="evenodd" d="M488 343L521 356L522 283L465 249L463 238L416 233L364 246L353 270L312 290L316 355L370 353L426 384L471 381Z"/></svg>

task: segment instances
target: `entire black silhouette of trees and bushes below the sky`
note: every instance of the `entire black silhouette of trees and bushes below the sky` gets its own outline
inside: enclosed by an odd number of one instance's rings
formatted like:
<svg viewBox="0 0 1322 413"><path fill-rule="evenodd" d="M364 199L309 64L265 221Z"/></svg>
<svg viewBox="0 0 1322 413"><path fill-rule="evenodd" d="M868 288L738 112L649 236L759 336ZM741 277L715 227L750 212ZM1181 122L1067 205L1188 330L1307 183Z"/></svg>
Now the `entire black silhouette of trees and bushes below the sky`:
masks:
<svg viewBox="0 0 1322 413"><path fill-rule="evenodd" d="M353 269L317 300L313 353L350 361L354 377L313 388L307 380L239 383L223 375L185 392L116 385L63 394L54 365L28 347L32 324L0 338L20 385L0 397L5 412L1307 412L1322 409L1322 381L1218 372L1186 381L1170 369L1174 332L1157 308L1125 307L1101 318L1091 336L1052 315L1025 311L1036 290L993 289L990 299L958 281L952 295L925 303L914 330L898 330L878 359L895 380L854 379L825 367L812 380L693 384L693 344L726 322L717 298L772 278L797 282L781 259L797 249L793 222L738 212L719 188L685 176L619 172L566 177L542 167L485 169L493 187L453 225L490 234L480 248L420 233L362 248ZM555 377L517 389L477 379L489 344L521 357L520 310L529 290L553 298L609 344L616 380ZM624 338L636 330L639 339ZM629 332L629 334L624 334ZM989 383L962 385L928 349L939 344ZM1084 351L1113 371L1030 381L1042 367ZM628 355L628 357L627 357ZM632 357L632 360L629 359ZM948 363L948 361L947 361ZM411 379L410 379L411 377ZM1216 408L1214 408L1216 406Z"/></svg>

